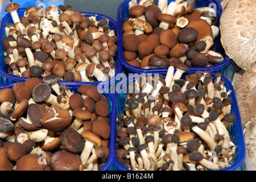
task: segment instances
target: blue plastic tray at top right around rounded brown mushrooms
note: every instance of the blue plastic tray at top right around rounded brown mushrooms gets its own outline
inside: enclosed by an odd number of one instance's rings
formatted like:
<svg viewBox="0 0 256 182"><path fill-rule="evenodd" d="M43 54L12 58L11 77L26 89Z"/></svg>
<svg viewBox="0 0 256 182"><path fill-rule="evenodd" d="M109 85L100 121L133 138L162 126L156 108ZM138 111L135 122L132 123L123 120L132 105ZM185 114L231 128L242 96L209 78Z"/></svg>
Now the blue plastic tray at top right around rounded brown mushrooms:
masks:
<svg viewBox="0 0 256 182"><path fill-rule="evenodd" d="M172 0L168 0L168 3L170 3ZM129 2L130 0L126 0L123 1L121 3L121 5L119 5L118 7L118 12L117 12L117 26L118 26L118 44L119 44L119 57L120 57L120 62L123 65L123 71L125 71L125 73L166 73L168 68L154 68L154 69L142 69L139 67L134 67L132 65L130 65L129 63L127 63L127 61L124 59L123 57L123 47L122 47L122 24L123 22L125 22L126 18L129 16ZM211 4L214 3L214 4ZM220 5L220 1L218 0L204 0L204 1L196 1L196 8L197 7L205 7L205 6L209 6L212 7L211 5L214 5L216 7L216 16L218 18L218 22L216 24L216 26L219 27L220 25L220 17L221 17L221 13L222 13L222 7ZM213 8L215 8L213 7ZM216 52L221 53L222 56L224 56L224 61L222 61L219 64L215 64L212 67L191 67L189 68L188 73L190 72L195 72L197 70L201 70L201 71L218 71L221 68L224 68L228 63L229 63L229 59L225 59L225 51L221 46L221 42L220 42L220 34L218 34L218 36L216 37L216 39L214 39L214 45L212 47L212 49Z"/></svg>

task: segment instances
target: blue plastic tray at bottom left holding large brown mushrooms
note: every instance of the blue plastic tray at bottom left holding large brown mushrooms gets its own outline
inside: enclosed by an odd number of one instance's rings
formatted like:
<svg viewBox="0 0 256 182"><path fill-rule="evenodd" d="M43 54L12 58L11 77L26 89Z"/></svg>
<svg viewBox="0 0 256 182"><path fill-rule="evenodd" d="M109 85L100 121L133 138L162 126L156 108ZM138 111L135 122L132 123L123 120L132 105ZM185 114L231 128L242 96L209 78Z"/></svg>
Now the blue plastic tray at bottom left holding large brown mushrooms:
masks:
<svg viewBox="0 0 256 182"><path fill-rule="evenodd" d="M4 89L4 88L12 88L14 84L15 83L3 84L3 85L0 86L0 90ZM60 83L59 83L59 85L60 85ZM74 91L74 93L78 93L77 88L79 88L80 84L73 84L73 85L66 84L66 85L69 86L69 89L71 91ZM86 85L95 85L95 86L97 86L97 84L95 84L95 83L88 83L88 84L86 83ZM115 131L115 117L116 117L116 114L115 114L116 109L115 108L116 108L116 104L115 104L114 94L111 94L110 91L107 90L107 89L101 89L101 88L99 88L99 89L101 90L102 96L105 96L106 98L108 98L109 105L110 105L109 120L110 120L111 133L110 133L110 137L109 137L109 156L106 159L105 165L101 169L99 169L99 171L108 171L109 169L113 168L112 165L113 165L114 153L115 153L115 148L114 148L115 134L114 134L114 131Z"/></svg>

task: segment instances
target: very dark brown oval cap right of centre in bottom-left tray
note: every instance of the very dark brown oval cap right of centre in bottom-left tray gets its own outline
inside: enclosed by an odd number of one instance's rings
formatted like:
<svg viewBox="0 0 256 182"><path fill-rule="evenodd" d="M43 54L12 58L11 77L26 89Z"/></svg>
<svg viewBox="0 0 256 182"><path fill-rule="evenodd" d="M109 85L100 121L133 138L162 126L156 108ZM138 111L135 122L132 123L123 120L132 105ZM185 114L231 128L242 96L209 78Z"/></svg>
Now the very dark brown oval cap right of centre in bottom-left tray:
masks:
<svg viewBox="0 0 256 182"><path fill-rule="evenodd" d="M74 129L68 128L61 134L61 143L64 148L73 153L79 153L84 149L84 138Z"/></svg>

